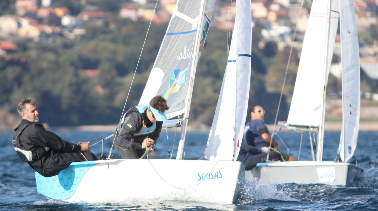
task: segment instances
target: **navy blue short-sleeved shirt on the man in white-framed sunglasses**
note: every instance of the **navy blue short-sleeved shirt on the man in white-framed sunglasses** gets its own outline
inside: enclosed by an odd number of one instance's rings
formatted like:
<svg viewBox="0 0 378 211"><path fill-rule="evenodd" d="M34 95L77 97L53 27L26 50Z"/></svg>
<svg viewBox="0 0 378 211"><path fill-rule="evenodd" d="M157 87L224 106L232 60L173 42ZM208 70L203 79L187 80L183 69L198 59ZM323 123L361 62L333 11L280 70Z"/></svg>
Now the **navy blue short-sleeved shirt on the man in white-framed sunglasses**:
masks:
<svg viewBox="0 0 378 211"><path fill-rule="evenodd" d="M253 119L246 123L243 135L243 141L248 143L248 145L256 147L269 146L268 142L262 139L261 134L267 132L269 134L268 127L262 120Z"/></svg>

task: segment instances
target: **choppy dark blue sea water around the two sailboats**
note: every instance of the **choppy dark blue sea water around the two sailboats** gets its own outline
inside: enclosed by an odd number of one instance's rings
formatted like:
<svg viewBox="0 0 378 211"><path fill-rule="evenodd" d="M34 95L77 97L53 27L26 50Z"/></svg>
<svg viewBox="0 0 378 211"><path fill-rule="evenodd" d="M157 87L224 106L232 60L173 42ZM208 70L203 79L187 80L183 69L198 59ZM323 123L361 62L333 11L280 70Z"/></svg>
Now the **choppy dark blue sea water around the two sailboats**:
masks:
<svg viewBox="0 0 378 211"><path fill-rule="evenodd" d="M59 129L53 131L67 141L90 141L91 144L112 134ZM358 147L352 162L364 169L360 187L294 183L259 185L257 181L242 179L239 181L241 194L237 203L227 205L197 202L195 199L201 196L190 189L182 194L157 199L132 198L95 204L48 199L37 193L34 170L27 163L20 162L12 147L11 135L11 132L0 132L0 210L378 210L378 132L359 133ZM280 137L294 157L300 153L300 160L312 159L307 134L303 136L300 152L301 134L280 132ZM325 132L323 160L335 160L339 137L340 132ZM208 132L188 132L184 159L199 159L203 155L207 138ZM167 140L166 131L163 130L155 146L155 158L167 159L170 155L174 159L179 139L179 133L168 132ZM104 141L103 147L101 142L91 146L91 151L97 156L101 152L108 155L111 146L110 138ZM281 142L279 148L286 151ZM112 152L112 158L119 158L114 149ZM104 189L103 193L106 194L107 191ZM208 194L211 194L211 190Z"/></svg>

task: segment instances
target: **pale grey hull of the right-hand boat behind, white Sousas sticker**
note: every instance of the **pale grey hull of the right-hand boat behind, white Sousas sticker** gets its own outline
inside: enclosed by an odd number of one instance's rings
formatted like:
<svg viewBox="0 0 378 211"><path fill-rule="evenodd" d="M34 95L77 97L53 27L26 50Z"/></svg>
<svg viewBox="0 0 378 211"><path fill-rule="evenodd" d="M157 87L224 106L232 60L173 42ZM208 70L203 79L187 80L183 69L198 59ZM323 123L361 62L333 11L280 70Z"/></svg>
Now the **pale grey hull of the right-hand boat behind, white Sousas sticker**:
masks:
<svg viewBox="0 0 378 211"><path fill-rule="evenodd" d="M362 168L350 163L332 161L291 161L258 163L245 172L249 180L257 178L259 184L322 183L327 185L356 186Z"/></svg>

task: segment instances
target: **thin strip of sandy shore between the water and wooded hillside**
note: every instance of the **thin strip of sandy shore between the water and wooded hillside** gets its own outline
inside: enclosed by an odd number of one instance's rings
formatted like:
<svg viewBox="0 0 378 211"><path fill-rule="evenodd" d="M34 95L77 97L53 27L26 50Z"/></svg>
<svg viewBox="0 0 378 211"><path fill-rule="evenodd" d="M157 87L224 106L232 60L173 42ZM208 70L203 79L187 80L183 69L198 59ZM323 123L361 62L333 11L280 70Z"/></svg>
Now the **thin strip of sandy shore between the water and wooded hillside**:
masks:
<svg viewBox="0 0 378 211"><path fill-rule="evenodd" d="M270 131L273 131L273 124L267 125ZM83 125L76 127L60 127L56 128L58 130L80 130L80 131L101 131L101 132L114 132L116 125ZM276 130L278 126L276 125ZM174 130L174 129L169 129ZM209 131L210 128L207 126L188 126L188 131ZM359 123L360 131L378 131L378 122L360 122ZM282 131L289 131L282 129ZM325 131L341 131L341 122L325 122Z"/></svg>

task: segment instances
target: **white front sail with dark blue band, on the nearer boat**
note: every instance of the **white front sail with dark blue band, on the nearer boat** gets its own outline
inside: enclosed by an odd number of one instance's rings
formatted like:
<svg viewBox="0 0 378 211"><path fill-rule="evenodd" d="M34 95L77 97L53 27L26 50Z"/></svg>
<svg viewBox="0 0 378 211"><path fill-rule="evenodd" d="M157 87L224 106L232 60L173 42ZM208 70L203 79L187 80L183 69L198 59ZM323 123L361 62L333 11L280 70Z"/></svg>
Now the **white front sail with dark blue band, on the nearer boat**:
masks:
<svg viewBox="0 0 378 211"><path fill-rule="evenodd" d="M204 152L208 160L235 160L239 154L248 106L250 57L251 3L238 0L226 71Z"/></svg>

